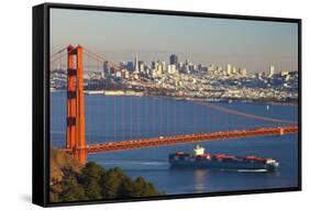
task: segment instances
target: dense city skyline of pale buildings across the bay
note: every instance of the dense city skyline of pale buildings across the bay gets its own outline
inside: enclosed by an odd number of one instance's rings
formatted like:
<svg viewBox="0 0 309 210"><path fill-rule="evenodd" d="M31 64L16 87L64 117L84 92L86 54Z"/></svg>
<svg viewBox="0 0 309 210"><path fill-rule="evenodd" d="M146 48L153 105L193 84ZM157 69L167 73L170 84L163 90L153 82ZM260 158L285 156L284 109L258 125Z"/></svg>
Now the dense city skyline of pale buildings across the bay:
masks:
<svg viewBox="0 0 309 210"><path fill-rule="evenodd" d="M245 67L227 64L192 64L169 56L169 64L139 60L112 64L104 62L99 70L84 74L85 93L106 96L164 96L208 101L297 102L298 71L276 69L249 75ZM51 73L51 90L65 90L66 69Z"/></svg>

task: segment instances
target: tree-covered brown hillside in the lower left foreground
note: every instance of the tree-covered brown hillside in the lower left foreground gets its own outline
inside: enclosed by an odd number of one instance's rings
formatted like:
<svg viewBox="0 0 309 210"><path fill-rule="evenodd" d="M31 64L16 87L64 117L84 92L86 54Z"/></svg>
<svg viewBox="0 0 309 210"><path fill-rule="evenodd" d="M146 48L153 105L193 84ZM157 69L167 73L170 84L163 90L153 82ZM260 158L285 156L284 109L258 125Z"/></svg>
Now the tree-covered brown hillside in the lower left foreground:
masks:
<svg viewBox="0 0 309 210"><path fill-rule="evenodd" d="M121 168L106 169L93 162L85 166L70 155L51 150L51 202L159 196L143 177L132 179Z"/></svg>

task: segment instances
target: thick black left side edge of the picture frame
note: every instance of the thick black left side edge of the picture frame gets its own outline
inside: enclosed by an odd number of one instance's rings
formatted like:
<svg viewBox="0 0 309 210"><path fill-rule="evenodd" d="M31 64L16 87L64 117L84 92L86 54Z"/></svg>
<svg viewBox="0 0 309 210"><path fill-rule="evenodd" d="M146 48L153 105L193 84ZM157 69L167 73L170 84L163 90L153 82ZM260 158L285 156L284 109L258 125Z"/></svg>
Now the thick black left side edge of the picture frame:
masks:
<svg viewBox="0 0 309 210"><path fill-rule="evenodd" d="M32 202L47 205L47 40L46 4L32 9Z"/></svg>

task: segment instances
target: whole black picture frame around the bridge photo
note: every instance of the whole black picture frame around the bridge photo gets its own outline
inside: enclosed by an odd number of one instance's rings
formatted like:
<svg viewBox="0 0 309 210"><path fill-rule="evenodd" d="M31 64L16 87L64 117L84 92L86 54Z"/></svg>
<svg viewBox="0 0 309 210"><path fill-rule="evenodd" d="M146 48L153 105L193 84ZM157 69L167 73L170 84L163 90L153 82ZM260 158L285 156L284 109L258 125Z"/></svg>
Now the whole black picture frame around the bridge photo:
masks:
<svg viewBox="0 0 309 210"><path fill-rule="evenodd" d="M258 190L238 190L222 192L205 194L184 194L167 195L147 198L112 199L112 200L92 200L92 201L73 201L51 203L48 200L48 178L49 178L49 10L51 9L70 9L88 11L112 11L125 13L146 13L146 14L168 14L181 16L201 16L217 19L236 19L236 20L258 20L288 22L298 24L298 186L291 188L258 189ZM168 10L148 10L133 8L113 8L99 5L80 5L64 3L43 3L33 7L33 166L32 166L32 201L42 207L73 206L73 205L93 205L109 202L126 202L143 200L163 200L181 199L195 197L249 195L266 192L284 192L301 190L301 20L273 16L254 16L238 14L214 14L201 12L184 12Z"/></svg>

